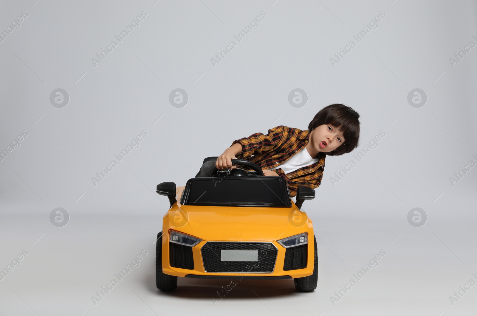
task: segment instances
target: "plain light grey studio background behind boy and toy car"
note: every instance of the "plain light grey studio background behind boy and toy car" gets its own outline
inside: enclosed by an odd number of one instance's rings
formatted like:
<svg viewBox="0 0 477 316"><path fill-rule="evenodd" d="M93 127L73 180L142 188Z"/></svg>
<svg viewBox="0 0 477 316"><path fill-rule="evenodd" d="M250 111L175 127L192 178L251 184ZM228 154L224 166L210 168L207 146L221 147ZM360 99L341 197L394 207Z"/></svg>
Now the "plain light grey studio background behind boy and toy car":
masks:
<svg viewBox="0 0 477 316"><path fill-rule="evenodd" d="M474 287L449 301L477 274L476 167L454 186L449 180L477 162L477 47L449 62L477 44L475 1L33 0L1 8L0 31L21 12L28 17L0 43L0 149L28 136L0 162L0 268L22 249L29 255L0 281L0 314L475 311ZM96 53L141 11L140 27L94 67ZM259 27L237 42L261 11ZM357 42L380 11L378 27ZM237 47L214 67L210 59L230 41ZM333 67L350 41L356 47ZM70 97L63 108L50 103L57 88ZM169 103L176 88L188 94L184 107ZM288 102L296 88L308 95L301 108ZM423 107L407 102L415 88L427 95ZM362 133L353 153L327 158L317 198L303 205L318 237L318 288L298 294L290 280L241 281L217 306L212 298L227 280L180 278L176 293L158 292L153 242L168 204L156 185L184 185L203 158L241 137L278 125L307 129L336 102L360 113ZM94 186L95 173L143 130L140 146ZM380 131L378 146L333 185ZM63 227L49 219L57 207L70 216ZM407 222L415 207L427 214L421 227ZM142 249L148 255L131 277L94 306L91 296ZM333 306L333 292L380 249L379 266Z"/></svg>

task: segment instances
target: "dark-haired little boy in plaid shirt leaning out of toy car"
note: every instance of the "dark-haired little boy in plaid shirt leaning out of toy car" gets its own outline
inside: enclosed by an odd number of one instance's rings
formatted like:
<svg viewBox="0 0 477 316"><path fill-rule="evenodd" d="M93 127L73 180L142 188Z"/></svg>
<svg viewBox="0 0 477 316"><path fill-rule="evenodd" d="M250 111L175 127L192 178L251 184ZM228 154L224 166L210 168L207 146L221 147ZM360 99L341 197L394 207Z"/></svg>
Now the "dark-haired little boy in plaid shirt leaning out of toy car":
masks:
<svg viewBox="0 0 477 316"><path fill-rule="evenodd" d="M308 130L280 125L267 135L255 133L233 141L217 161L204 163L196 177L235 169L237 165L232 165L231 159L245 159L258 164L265 176L283 177L290 197L296 196L299 185L312 189L320 186L326 155L350 153L358 146L359 117L358 112L344 104L328 105L315 115Z"/></svg>

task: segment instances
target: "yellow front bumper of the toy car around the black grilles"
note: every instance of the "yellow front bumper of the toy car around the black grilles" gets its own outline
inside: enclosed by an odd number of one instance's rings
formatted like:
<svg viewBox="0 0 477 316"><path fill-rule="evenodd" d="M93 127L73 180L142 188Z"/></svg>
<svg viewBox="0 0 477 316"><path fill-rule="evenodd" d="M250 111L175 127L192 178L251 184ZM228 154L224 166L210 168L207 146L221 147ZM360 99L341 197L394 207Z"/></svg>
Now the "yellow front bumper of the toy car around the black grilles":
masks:
<svg viewBox="0 0 477 316"><path fill-rule="evenodd" d="M305 246L293 248L284 248L276 241L202 240L194 247L181 249L169 243L167 238L163 238L162 268L166 275L196 278L281 279L312 275L314 244L309 242ZM220 249L257 249L259 259L255 262L226 264L220 262ZM304 267L297 268L302 266Z"/></svg>

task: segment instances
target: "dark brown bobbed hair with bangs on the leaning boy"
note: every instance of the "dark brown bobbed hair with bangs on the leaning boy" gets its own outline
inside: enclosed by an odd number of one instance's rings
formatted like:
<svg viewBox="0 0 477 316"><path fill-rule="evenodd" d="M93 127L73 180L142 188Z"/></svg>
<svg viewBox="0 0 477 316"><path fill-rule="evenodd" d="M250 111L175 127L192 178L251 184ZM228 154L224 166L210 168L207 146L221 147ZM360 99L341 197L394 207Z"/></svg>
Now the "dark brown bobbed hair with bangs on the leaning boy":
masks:
<svg viewBox="0 0 477 316"><path fill-rule="evenodd" d="M358 147L359 142L359 113L354 111L351 107L341 103L334 103L325 106L316 113L313 120L308 124L308 129L311 131L315 127L323 124L332 124L338 127L342 132L345 142L330 153L329 156L339 156L343 153L350 153L354 148Z"/></svg>

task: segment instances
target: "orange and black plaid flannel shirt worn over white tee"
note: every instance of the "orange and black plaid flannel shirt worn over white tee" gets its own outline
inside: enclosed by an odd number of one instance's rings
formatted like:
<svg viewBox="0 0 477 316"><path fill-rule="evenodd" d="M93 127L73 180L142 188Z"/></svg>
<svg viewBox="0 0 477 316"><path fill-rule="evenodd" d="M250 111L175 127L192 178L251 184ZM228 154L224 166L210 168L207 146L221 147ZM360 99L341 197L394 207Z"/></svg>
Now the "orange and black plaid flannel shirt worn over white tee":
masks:
<svg viewBox="0 0 477 316"><path fill-rule="evenodd" d="M280 125L270 129L267 135L255 133L233 141L232 145L235 143L242 145L242 152L237 155L237 158L256 163L262 169L269 169L287 161L293 154L306 147L310 141L310 132ZM320 186L326 154L319 153L318 157L320 157L318 162L290 173L285 173L281 168L273 170L287 182L290 197L297 195L299 185L309 186L312 189ZM242 167L248 171L252 170Z"/></svg>

